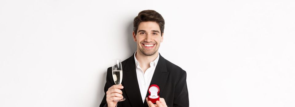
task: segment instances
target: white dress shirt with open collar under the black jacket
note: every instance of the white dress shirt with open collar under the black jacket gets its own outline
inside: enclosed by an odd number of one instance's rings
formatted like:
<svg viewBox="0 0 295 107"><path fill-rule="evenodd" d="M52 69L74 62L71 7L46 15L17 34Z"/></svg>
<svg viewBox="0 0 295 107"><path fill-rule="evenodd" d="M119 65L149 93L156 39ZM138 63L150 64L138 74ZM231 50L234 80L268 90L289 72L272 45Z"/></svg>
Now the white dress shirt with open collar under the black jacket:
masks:
<svg viewBox="0 0 295 107"><path fill-rule="evenodd" d="M135 52L135 54L137 51ZM134 59L135 59L135 68L136 68L136 75L137 75L137 80L138 80L138 86L140 90L140 94L142 97L142 101L144 102L146 100L146 93L148 92L149 89L149 84L152 81L153 74L155 72L157 63L159 61L159 53L158 57L149 63L150 67L146 69L146 72L143 73L142 68L139 66L139 62L137 61L136 57L134 54Z"/></svg>

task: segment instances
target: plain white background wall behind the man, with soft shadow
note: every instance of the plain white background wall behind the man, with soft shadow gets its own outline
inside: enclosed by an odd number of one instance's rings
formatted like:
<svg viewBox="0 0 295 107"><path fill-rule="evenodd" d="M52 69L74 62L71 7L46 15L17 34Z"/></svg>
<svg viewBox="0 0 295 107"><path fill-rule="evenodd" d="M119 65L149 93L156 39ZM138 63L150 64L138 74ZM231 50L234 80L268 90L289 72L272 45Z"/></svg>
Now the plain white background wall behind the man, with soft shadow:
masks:
<svg viewBox="0 0 295 107"><path fill-rule="evenodd" d="M159 52L187 72L191 107L295 106L293 0L1 0L0 106L97 107L145 9L165 19Z"/></svg>

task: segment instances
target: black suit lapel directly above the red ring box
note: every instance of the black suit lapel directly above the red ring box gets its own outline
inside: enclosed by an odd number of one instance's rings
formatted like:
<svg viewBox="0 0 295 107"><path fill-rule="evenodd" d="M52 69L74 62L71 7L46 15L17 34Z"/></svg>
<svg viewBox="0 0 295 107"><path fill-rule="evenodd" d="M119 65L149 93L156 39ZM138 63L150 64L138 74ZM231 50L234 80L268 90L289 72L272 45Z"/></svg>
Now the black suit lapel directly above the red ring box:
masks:
<svg viewBox="0 0 295 107"><path fill-rule="evenodd" d="M159 55L160 55L159 61L157 63L155 72L153 74L151 83L149 85L156 84L156 85L159 86L159 88L160 88L159 95L160 95L160 98L161 98L161 93L163 93L161 90L163 90L165 88L169 72L167 72L165 58L162 57L160 53L159 53ZM149 96L149 91L146 93L146 97L148 97L148 96ZM145 101L144 104L147 105L146 101Z"/></svg>

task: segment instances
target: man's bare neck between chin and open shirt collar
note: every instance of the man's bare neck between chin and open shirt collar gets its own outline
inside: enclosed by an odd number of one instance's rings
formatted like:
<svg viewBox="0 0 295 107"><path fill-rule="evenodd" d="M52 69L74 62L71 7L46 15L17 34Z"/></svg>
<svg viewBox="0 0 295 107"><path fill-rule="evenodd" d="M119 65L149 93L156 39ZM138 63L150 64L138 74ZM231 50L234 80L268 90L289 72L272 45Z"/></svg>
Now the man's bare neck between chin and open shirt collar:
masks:
<svg viewBox="0 0 295 107"><path fill-rule="evenodd" d="M135 53L135 57L137 59L137 61L140 63L140 65L148 65L149 63L154 61L157 57L158 57L158 51L151 55L151 56L146 56L144 55L140 50L137 50L137 52Z"/></svg>

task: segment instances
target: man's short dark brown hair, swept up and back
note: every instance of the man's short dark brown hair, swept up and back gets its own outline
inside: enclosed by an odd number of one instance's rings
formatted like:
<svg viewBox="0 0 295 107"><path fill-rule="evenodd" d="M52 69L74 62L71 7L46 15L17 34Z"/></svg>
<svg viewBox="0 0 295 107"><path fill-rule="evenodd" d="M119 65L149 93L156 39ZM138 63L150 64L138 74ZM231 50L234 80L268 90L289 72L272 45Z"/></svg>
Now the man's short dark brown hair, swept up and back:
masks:
<svg viewBox="0 0 295 107"><path fill-rule="evenodd" d="M159 24L162 36L162 33L164 32L165 20L162 15L155 10L143 10L138 13L138 16L135 17L133 20L133 31L135 35L137 34L138 25L140 24L140 22L146 21L157 22L157 24Z"/></svg>

